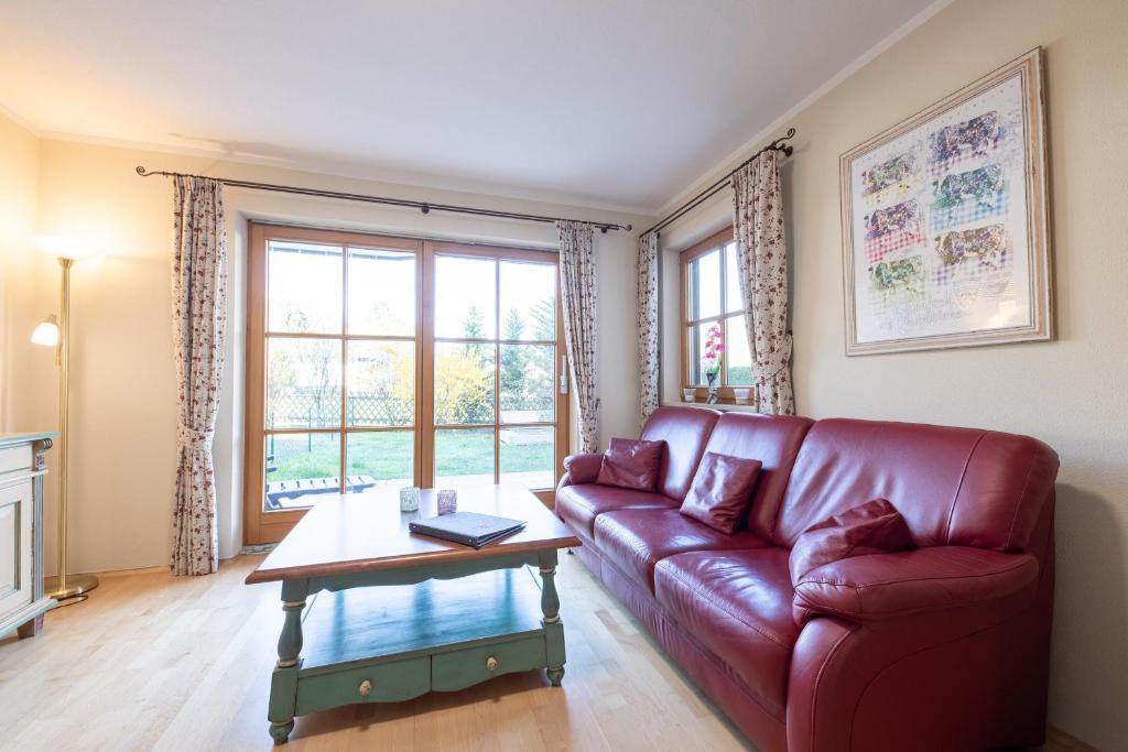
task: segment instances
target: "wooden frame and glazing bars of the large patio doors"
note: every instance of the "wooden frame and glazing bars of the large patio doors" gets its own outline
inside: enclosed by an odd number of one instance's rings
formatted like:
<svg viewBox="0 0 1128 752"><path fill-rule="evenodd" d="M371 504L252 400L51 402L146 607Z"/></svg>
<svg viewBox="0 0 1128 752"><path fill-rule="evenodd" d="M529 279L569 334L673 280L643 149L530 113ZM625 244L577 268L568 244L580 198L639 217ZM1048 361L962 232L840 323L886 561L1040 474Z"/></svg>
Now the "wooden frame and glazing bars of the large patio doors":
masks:
<svg viewBox="0 0 1128 752"><path fill-rule="evenodd" d="M433 485L434 483L434 432L439 430L468 430L468 428L493 428L494 431L494 481L496 483L501 474L500 434L502 426L555 426L555 468L561 471L564 458L569 454L570 426L570 393L561 393L559 379L566 373L564 355L566 353L564 343L564 318L559 298L559 255L549 250L532 250L525 248L511 248L506 246L486 246L447 240L430 240L404 238L396 236L385 236L367 232L351 232L338 230L321 230L312 228L300 228L270 224L250 221L247 246L247 324L246 324L246 391L245 391L245 449L244 449L244 542L245 545L261 545L281 540L298 520L306 514L310 507L300 510L263 510L263 497L265 494L265 467L266 449L265 436L267 433L325 433L344 434L341 440L341 469L342 483L346 476L345 449L347 446L349 433L373 433L379 431L414 432L414 467L413 483L416 486ZM412 253L416 257L415 267L415 334L414 336L384 336L384 335L350 335L344 326L344 317L349 310L349 273L347 263L343 258L343 291L342 291L342 331L341 334L302 334L302 333L271 333L266 329L266 300L267 300L267 273L266 273L266 248L272 240L306 241L317 244L332 244L342 247L362 246L369 248L380 248L400 253ZM347 251L346 251L347 253ZM500 306L495 312L496 339L483 339L482 342L495 344L494 363L494 422L492 424L466 425L466 426L435 426L434 424L434 344L438 339L443 342L447 337L435 337L433 331L434 316L434 274L437 256L462 256L462 257L487 257L494 258L497 274L501 273L502 260L530 260L539 263L552 263L556 269L556 359L554 364L553 389L555 393L555 421L554 423L513 424L501 422L501 359L500 347L504 344L548 344L547 340L508 340L501 338L501 316ZM500 300L500 284L494 293ZM266 425L266 373L265 356L266 340L271 336L285 336L293 338L332 339L342 342L342 418L341 425L328 428L275 428L267 431ZM347 378L346 359L347 344L353 340L412 340L415 342L415 419L408 426L349 426L345 415L347 406ZM468 342L456 338L457 342ZM474 340L477 342L477 340ZM531 492L541 502L552 505L555 499L555 489L538 489Z"/></svg>

